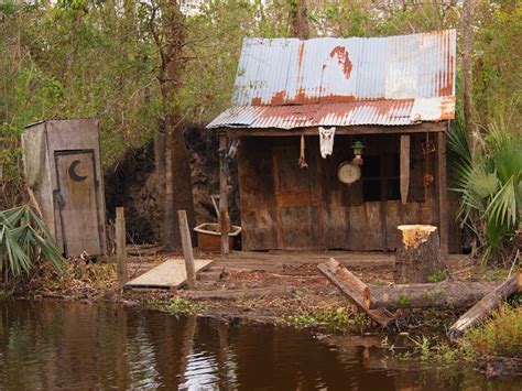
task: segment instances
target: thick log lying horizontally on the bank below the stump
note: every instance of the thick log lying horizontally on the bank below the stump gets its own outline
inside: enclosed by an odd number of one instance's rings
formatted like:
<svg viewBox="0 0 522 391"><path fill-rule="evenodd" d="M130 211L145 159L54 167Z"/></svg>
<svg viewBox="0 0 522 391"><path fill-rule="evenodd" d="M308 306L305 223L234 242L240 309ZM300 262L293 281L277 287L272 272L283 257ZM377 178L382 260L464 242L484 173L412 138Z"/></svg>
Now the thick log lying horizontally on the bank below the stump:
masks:
<svg viewBox="0 0 522 391"><path fill-rule="evenodd" d="M494 286L491 282L463 281L371 285L370 308L463 308L477 303Z"/></svg>

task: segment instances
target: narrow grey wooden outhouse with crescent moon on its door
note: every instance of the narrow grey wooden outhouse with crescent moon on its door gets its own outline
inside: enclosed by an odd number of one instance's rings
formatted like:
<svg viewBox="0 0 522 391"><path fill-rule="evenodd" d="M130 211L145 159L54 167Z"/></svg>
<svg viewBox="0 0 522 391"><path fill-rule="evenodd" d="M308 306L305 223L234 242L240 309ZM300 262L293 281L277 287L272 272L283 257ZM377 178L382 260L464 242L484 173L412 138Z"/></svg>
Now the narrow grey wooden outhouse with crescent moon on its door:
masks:
<svg viewBox="0 0 522 391"><path fill-rule="evenodd" d="M67 257L107 252L98 121L50 120L26 127L24 169L45 224Z"/></svg>

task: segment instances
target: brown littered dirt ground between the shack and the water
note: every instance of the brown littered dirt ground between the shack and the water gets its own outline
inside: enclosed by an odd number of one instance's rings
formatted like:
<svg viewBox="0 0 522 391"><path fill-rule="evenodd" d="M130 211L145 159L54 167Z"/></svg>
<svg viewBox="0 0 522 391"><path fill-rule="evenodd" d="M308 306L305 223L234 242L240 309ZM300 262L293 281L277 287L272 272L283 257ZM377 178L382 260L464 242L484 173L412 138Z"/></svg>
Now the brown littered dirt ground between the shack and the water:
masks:
<svg viewBox="0 0 522 391"><path fill-rule="evenodd" d="M128 275L133 279L168 258L181 253L156 253L151 247L129 248ZM226 321L281 322L291 316L318 316L357 309L320 274L317 263L335 256L339 262L369 284L387 285L393 282L393 254L383 253L241 253L229 259L195 251L196 259L216 259L209 272L222 270L218 281L197 281L197 292L232 292L244 290L255 294L231 298L194 298L193 291L119 290L116 267L112 263L70 262L64 275L53 279L50 271L31 282L30 295L85 302L117 302L124 305L157 307L173 297L195 303L194 312ZM500 280L508 270L488 269L466 256L450 256L447 261L449 279L459 281ZM47 274L45 274L47 273ZM191 309L192 311L192 309ZM465 309L398 309L401 329L442 332ZM320 325L319 325L320 326ZM366 332L379 329L368 323Z"/></svg>

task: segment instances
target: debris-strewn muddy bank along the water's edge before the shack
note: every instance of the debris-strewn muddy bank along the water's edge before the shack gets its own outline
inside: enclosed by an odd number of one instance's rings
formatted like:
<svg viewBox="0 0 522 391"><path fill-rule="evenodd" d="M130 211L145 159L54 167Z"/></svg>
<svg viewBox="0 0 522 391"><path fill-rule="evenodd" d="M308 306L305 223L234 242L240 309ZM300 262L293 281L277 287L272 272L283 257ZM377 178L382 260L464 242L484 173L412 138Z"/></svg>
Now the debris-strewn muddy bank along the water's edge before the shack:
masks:
<svg viewBox="0 0 522 391"><path fill-rule="evenodd" d="M135 278L170 257L181 254L152 254L129 258L129 279ZM196 251L198 259L214 256ZM173 297L197 303L197 313L225 318L260 319L261 322L289 321L298 327L331 327L331 330L381 332L365 315L342 297L315 263L287 262L275 267L267 261L252 264L247 261L218 261L211 269L222 271L218 281L198 281L197 292L249 292L222 298L205 297L186 290L178 291L127 291L120 293L113 264L89 263L75 260L67 264L63 276L51 271L33 279L30 295L50 298L79 300L85 302L119 302L128 305L157 306L157 301L168 302ZM381 262L382 263L382 262ZM367 283L385 285L392 282L393 267L371 263L368 260L350 270ZM454 279L461 281L480 280L487 271L469 264L466 259L455 259L450 263ZM197 293L196 292L196 293ZM252 292L254 294L252 294ZM175 308L174 308L175 309ZM400 330L425 333L444 332L464 309L398 309ZM344 314L336 315L336 314ZM345 316L346 315L346 316Z"/></svg>

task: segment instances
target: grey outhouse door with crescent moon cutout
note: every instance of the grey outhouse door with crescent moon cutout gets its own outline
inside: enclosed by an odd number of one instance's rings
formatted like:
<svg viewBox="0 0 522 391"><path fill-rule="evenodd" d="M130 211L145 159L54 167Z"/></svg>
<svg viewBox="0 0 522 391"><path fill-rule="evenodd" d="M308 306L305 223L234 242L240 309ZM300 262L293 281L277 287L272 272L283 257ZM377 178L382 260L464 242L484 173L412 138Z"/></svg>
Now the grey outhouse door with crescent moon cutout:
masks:
<svg viewBox="0 0 522 391"><path fill-rule="evenodd" d="M55 152L55 163L65 254L100 254L94 152Z"/></svg>

